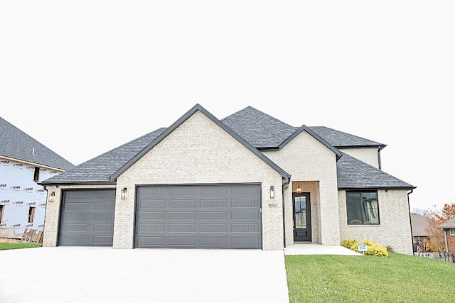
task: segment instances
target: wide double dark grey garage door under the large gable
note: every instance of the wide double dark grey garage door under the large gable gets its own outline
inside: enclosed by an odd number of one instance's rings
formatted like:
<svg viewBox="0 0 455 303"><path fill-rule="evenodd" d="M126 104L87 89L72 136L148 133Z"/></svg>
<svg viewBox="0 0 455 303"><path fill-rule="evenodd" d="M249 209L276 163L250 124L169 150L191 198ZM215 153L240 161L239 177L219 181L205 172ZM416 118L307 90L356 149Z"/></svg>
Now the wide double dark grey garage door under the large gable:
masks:
<svg viewBox="0 0 455 303"><path fill-rule="evenodd" d="M137 189L139 248L262 248L259 184Z"/></svg>

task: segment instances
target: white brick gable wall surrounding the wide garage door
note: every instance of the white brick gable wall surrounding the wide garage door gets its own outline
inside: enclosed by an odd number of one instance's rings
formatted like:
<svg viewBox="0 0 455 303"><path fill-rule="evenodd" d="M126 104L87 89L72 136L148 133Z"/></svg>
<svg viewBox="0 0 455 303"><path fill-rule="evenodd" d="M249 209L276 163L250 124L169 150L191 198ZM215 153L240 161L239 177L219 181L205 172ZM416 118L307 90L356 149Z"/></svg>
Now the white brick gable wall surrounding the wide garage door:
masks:
<svg viewBox="0 0 455 303"><path fill-rule="evenodd" d="M139 184L262 184L262 247L283 248L282 176L199 111L117 179L114 248L134 245L134 192ZM275 198L269 198L274 186ZM119 191L117 191L119 192ZM269 208L269 203L278 204Z"/></svg>

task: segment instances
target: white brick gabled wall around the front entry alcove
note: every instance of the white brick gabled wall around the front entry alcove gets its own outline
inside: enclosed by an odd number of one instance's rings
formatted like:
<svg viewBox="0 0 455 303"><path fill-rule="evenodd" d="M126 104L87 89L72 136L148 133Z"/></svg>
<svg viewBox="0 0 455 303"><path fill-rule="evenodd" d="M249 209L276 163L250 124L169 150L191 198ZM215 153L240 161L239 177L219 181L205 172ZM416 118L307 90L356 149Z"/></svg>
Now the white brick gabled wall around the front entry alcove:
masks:
<svg viewBox="0 0 455 303"><path fill-rule="evenodd" d="M311 200L311 225L316 227L313 240L323 245L339 245L338 185L336 178L336 155L325 145L303 131L279 151L264 152L272 161L286 170L295 182L319 182L319 192ZM286 191L287 245L294 243L292 222L292 193ZM316 206L316 207L315 207ZM289 216L289 212L291 215ZM317 220L314 222L314 219ZM335 224L334 224L335 223Z"/></svg>

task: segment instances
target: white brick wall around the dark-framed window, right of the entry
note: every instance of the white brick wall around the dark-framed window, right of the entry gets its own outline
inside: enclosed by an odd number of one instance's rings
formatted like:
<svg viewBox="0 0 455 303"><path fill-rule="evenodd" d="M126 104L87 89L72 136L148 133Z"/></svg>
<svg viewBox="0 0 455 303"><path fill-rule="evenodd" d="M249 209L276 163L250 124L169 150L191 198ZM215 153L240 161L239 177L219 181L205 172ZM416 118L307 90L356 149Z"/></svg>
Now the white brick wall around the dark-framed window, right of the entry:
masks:
<svg viewBox="0 0 455 303"><path fill-rule="evenodd" d="M378 191L380 225L348 225L346 191L340 190L340 231L343 239L362 241L370 238L373 243L390 245L397 253L412 255L410 213L406 190Z"/></svg>

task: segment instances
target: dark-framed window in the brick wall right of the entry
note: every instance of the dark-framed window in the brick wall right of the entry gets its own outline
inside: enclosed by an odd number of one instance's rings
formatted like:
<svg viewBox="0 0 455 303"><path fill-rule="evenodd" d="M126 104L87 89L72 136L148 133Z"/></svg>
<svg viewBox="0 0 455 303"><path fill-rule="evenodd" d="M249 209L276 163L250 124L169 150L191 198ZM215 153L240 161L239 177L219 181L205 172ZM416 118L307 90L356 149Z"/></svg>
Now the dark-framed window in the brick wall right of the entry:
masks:
<svg viewBox="0 0 455 303"><path fill-rule="evenodd" d="M378 192L346 192L348 224L379 224Z"/></svg>

